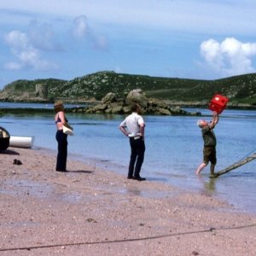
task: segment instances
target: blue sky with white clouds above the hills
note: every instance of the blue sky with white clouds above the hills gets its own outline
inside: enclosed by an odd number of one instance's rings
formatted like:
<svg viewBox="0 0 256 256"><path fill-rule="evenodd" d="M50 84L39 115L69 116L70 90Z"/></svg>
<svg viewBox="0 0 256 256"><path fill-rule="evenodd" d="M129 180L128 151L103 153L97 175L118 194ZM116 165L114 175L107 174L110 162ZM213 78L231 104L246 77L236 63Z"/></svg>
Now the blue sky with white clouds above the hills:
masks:
<svg viewBox="0 0 256 256"><path fill-rule="evenodd" d="M1 0L0 89L99 71L255 73L255 9L255 0Z"/></svg>

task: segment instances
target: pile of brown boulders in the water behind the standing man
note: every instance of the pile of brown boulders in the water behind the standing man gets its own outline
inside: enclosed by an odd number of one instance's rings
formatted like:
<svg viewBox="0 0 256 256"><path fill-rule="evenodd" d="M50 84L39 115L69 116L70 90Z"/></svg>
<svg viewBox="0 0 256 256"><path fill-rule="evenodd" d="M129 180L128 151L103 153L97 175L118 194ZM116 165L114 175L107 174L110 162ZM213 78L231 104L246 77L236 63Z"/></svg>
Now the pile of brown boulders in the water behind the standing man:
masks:
<svg viewBox="0 0 256 256"><path fill-rule="evenodd" d="M131 103L137 103L141 106L145 114L158 115L200 115L201 113L189 113L177 106L166 103L165 101L148 98L141 89L131 90L127 96L120 98L113 92L109 92L102 97L102 101L91 108L75 108L73 112L84 113L131 113Z"/></svg>

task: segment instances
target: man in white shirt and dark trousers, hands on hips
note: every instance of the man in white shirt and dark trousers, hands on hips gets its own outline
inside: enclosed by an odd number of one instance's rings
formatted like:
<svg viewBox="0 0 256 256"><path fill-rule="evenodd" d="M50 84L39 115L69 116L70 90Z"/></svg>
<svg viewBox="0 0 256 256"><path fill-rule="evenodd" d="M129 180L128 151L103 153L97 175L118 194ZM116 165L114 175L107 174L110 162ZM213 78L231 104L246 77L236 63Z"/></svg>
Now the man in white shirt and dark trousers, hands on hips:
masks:
<svg viewBox="0 0 256 256"><path fill-rule="evenodd" d="M145 123L140 115L141 108L137 104L131 106L131 114L119 125L119 129L130 138L131 159L127 178L133 178L138 181L146 180L140 176L143 166L145 143L144 130ZM134 168L135 166L135 168Z"/></svg>

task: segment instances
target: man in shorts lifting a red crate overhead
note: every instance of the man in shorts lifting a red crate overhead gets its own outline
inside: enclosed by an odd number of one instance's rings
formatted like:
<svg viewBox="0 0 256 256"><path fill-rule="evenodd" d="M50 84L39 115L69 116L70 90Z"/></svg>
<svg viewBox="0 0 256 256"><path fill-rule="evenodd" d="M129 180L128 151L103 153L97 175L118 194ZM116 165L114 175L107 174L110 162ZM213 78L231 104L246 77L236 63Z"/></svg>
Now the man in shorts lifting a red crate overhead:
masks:
<svg viewBox="0 0 256 256"><path fill-rule="evenodd" d="M211 176L214 176L214 168L217 163L216 158L216 137L213 132L215 125L218 123L218 113L214 112L212 115L212 121L208 123L205 120L198 120L197 125L201 128L201 134L204 141L204 149L203 149L203 162L200 166L198 166L195 174L199 174L204 167L207 166L209 161L211 162L210 171Z"/></svg>

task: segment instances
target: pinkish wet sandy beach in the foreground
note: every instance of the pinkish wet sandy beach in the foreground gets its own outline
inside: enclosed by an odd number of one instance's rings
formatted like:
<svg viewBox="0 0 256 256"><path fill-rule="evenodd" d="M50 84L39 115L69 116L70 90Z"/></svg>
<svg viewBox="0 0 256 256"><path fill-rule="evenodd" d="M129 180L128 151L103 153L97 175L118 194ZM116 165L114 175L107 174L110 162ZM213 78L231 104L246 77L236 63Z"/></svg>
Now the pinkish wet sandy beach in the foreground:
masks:
<svg viewBox="0 0 256 256"><path fill-rule="evenodd" d="M256 255L255 215L55 154L0 154L0 255Z"/></svg>

